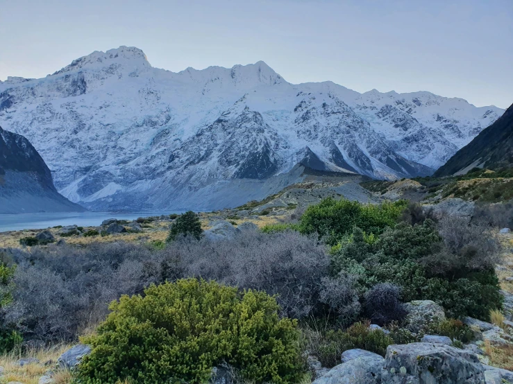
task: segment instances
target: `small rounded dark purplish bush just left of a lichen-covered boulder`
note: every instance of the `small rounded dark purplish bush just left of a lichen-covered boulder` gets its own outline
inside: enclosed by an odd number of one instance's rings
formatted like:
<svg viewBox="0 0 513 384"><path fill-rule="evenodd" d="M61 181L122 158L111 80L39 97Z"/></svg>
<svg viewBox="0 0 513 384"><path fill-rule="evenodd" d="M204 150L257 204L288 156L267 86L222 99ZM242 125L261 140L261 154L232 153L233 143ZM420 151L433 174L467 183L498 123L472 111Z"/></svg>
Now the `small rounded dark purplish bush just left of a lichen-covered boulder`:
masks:
<svg viewBox="0 0 513 384"><path fill-rule="evenodd" d="M372 324L384 326L394 321L401 321L406 310L400 301L401 287L391 283L378 283L367 291L364 308Z"/></svg>

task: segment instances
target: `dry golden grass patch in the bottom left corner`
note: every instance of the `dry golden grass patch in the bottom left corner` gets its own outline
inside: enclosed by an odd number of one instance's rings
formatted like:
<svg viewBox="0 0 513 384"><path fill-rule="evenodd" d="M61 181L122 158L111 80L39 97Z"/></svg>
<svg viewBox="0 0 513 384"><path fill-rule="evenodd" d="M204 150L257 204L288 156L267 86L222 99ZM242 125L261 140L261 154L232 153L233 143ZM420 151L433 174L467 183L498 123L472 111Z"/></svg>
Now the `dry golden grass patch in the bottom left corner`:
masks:
<svg viewBox="0 0 513 384"><path fill-rule="evenodd" d="M51 368L53 363L57 361L57 358L65 352L67 349L71 347L67 344L58 344L49 348L40 348L28 351L26 354L20 354L19 351L12 351L8 354L3 354L0 356L0 365L3 367L3 377L2 380L6 383L10 381L19 381L24 384L37 384L39 383L39 379L41 376L47 372L48 369ZM23 367L20 367L17 363L20 358L37 358L40 363L31 363L26 364ZM51 365L45 367L44 363L47 361L51 361ZM65 374L62 373L64 377ZM71 378L71 376L67 376ZM64 380L64 379L62 379ZM2 383L3 383L2 381ZM58 384L67 384L68 381L58 381Z"/></svg>

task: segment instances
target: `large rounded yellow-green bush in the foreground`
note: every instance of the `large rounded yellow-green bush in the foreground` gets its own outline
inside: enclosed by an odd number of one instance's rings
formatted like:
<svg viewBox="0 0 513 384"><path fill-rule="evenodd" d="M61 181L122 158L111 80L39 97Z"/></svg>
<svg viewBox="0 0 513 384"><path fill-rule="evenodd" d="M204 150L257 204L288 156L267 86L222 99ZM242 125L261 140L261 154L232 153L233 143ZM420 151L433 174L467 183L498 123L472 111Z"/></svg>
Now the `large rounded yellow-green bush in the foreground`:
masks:
<svg viewBox="0 0 513 384"><path fill-rule="evenodd" d="M295 383L301 376L296 322L278 317L266 293L185 279L121 297L78 367L82 383L205 382L226 362L248 380Z"/></svg>

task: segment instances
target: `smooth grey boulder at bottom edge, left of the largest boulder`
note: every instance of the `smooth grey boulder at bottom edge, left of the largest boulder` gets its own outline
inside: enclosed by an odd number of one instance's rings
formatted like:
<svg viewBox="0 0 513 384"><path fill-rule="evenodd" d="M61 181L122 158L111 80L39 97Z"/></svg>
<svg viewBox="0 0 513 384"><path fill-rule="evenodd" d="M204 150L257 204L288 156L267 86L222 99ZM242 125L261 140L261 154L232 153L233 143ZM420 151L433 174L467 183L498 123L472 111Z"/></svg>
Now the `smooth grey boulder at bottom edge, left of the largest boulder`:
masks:
<svg viewBox="0 0 513 384"><path fill-rule="evenodd" d="M360 356L330 369L313 384L380 384L384 359Z"/></svg>

